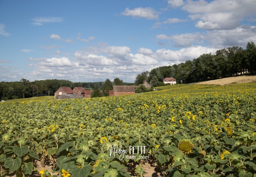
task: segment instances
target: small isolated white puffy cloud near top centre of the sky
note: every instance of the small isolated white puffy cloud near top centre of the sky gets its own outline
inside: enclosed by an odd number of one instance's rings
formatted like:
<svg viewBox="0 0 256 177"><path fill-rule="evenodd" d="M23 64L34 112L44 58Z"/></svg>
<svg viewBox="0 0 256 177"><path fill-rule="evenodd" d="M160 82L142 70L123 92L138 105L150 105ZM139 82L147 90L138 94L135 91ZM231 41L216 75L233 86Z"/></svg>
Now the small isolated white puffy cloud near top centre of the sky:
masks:
<svg viewBox="0 0 256 177"><path fill-rule="evenodd" d="M158 12L151 7L146 7L146 8L138 7L138 8L134 8L133 10L126 8L125 11L122 12L122 15L138 17L138 18L146 18L149 20L158 20L159 18Z"/></svg>

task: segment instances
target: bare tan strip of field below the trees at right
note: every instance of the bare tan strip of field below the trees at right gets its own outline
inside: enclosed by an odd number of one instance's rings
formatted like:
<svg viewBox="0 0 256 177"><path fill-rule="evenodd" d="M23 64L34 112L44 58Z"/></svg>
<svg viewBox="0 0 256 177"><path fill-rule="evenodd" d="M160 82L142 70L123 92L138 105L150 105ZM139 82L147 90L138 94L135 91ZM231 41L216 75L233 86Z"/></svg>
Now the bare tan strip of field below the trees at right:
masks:
<svg viewBox="0 0 256 177"><path fill-rule="evenodd" d="M223 79L216 79L212 81L204 81L195 84L208 84L208 85L229 85L256 82L256 76L235 76Z"/></svg>

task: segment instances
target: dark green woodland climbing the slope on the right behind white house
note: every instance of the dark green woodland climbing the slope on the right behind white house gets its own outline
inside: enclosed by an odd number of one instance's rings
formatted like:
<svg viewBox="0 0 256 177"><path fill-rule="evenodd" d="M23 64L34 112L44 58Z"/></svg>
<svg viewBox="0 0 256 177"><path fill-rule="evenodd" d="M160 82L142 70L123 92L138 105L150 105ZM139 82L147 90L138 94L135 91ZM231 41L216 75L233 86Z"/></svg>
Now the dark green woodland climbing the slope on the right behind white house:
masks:
<svg viewBox="0 0 256 177"><path fill-rule="evenodd" d="M177 83L192 83L255 73L256 46L254 42L248 42L245 50L238 46L229 47L217 50L215 55L203 54L192 61L142 72L137 75L135 85L146 80L156 87L166 77L174 77Z"/></svg>

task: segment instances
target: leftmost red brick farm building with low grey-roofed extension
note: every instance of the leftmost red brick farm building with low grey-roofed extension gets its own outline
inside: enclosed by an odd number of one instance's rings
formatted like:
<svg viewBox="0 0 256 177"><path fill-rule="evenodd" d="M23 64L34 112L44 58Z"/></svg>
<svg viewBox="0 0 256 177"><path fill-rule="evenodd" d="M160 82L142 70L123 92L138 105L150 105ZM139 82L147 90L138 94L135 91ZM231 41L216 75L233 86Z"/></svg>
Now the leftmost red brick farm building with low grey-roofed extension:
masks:
<svg viewBox="0 0 256 177"><path fill-rule="evenodd" d="M54 99L70 99L70 98L83 98L83 96L73 93L69 87L60 87L54 93Z"/></svg>

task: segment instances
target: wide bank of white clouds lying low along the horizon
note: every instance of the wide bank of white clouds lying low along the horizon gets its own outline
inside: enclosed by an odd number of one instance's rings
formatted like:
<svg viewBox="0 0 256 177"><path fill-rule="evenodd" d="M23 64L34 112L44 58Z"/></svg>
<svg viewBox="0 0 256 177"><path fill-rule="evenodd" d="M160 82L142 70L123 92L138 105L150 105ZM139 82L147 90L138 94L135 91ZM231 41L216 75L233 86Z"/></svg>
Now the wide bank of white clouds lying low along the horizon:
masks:
<svg viewBox="0 0 256 177"><path fill-rule="evenodd" d="M159 49L155 52L148 48L139 48L137 53L133 54L127 46L99 44L74 52L73 59L30 58L33 69L27 74L24 73L24 76L28 76L26 78L31 81L57 78L72 82L96 82L106 79L113 81L118 77L125 82L134 82L137 74L144 71L151 71L164 65L179 64L206 53L214 54L216 50L202 46L191 46L180 50Z"/></svg>

